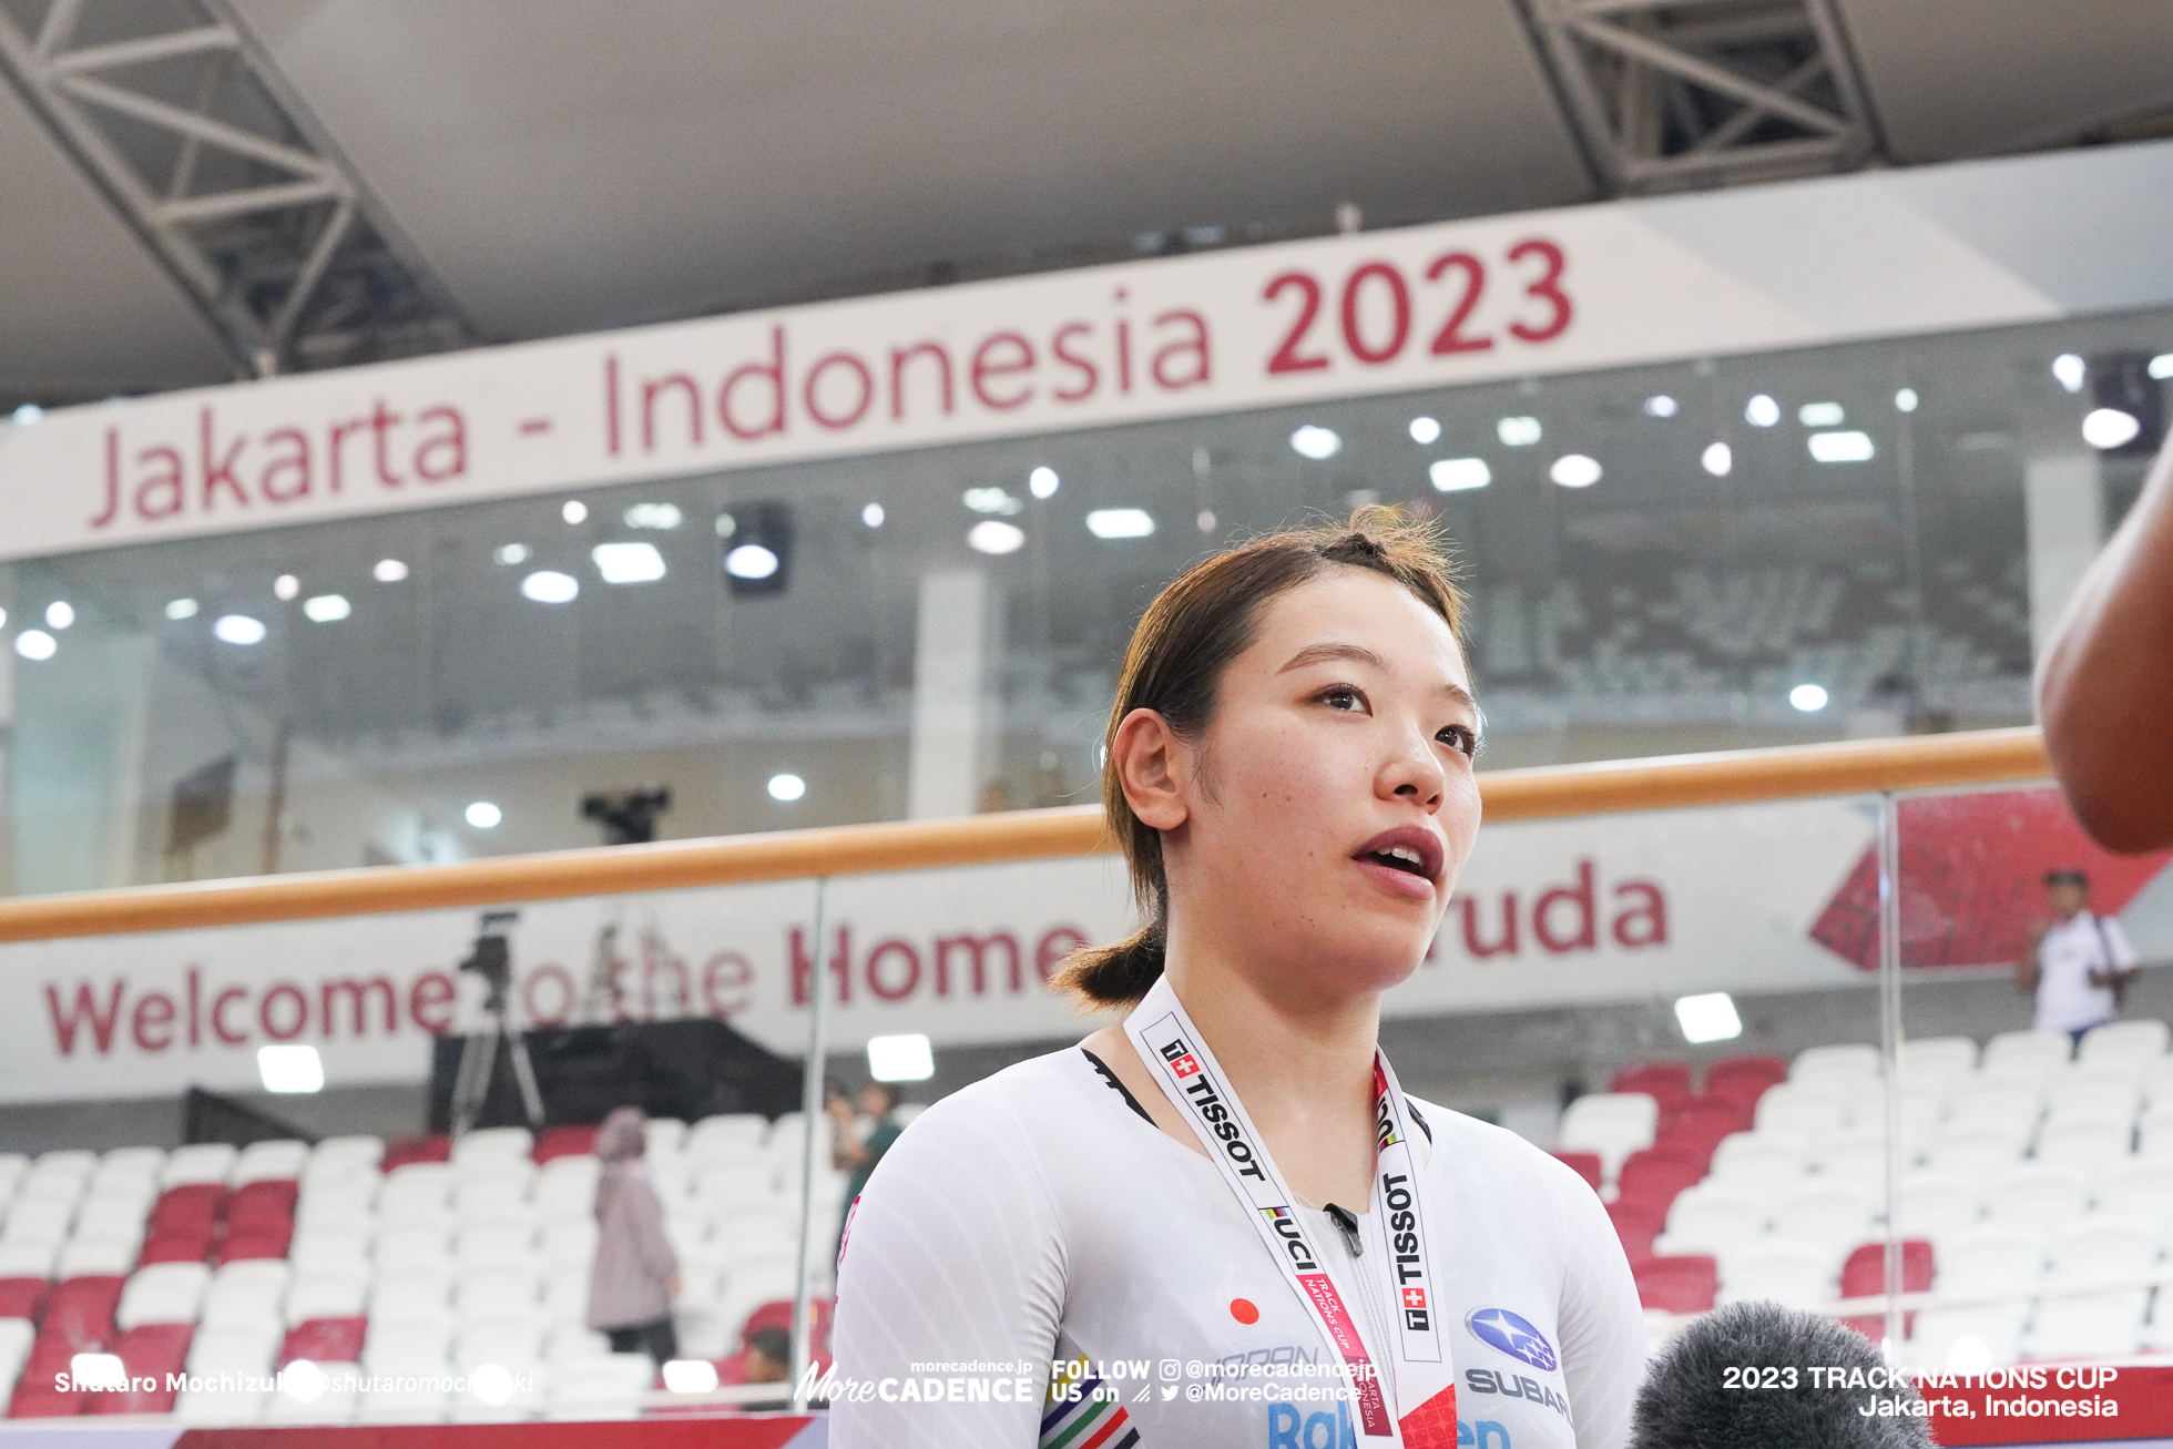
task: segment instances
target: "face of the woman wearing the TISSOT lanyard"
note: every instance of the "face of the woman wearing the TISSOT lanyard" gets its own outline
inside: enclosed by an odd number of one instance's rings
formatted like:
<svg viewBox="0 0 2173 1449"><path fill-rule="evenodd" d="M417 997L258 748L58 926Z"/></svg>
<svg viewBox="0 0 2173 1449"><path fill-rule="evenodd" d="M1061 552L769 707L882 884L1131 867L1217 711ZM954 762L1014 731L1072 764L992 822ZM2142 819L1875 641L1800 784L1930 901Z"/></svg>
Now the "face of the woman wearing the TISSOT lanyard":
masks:
<svg viewBox="0 0 2173 1449"><path fill-rule="evenodd" d="M1173 919L1304 995L1404 980L1478 834L1478 730L1456 637L1393 578L1330 567L1280 593L1173 747Z"/></svg>

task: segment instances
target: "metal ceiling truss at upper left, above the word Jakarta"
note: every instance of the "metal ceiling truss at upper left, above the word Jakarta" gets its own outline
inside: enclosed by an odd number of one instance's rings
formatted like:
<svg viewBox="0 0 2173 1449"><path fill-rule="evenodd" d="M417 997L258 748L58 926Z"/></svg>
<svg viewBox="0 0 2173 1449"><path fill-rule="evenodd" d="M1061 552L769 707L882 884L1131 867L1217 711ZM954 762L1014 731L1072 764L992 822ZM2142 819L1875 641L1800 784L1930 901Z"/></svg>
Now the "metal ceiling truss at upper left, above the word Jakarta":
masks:
<svg viewBox="0 0 2173 1449"><path fill-rule="evenodd" d="M0 0L0 70L241 371L476 341L224 0Z"/></svg>

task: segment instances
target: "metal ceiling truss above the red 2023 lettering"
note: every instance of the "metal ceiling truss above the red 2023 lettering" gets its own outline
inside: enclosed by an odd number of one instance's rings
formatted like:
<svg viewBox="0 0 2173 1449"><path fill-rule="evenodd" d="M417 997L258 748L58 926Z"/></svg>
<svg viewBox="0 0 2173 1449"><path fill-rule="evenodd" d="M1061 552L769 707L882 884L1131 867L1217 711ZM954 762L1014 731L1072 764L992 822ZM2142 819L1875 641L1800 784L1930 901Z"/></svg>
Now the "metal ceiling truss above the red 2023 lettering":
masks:
<svg viewBox="0 0 2173 1449"><path fill-rule="evenodd" d="M1525 0L1619 196L1856 169L1882 154L1834 0Z"/></svg>

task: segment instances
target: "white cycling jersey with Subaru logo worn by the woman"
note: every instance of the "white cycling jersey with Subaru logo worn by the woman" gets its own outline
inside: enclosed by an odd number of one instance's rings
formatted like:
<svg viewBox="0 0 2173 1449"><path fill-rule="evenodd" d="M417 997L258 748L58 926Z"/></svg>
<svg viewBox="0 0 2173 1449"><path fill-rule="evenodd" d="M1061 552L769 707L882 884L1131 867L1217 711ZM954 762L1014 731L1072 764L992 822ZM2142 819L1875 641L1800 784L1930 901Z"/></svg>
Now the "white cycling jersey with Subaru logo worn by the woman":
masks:
<svg viewBox="0 0 2173 1449"><path fill-rule="evenodd" d="M1458 1445L1615 1449L1645 1373L1599 1197L1523 1138L1412 1101L1443 1227ZM834 1449L1365 1449L1343 1364L1219 1169L1069 1047L928 1108L839 1262ZM1312 1212L1376 1364L1391 1258ZM1052 1390L1052 1366L1065 1364Z"/></svg>

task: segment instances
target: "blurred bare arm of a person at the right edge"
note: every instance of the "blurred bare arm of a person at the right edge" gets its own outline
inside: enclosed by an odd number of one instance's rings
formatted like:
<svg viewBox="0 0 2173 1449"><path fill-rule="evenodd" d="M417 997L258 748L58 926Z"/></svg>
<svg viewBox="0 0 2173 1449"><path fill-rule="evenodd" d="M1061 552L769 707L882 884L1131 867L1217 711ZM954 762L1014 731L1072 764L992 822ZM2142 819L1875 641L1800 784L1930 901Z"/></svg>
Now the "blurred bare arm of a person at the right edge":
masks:
<svg viewBox="0 0 2173 1449"><path fill-rule="evenodd" d="M2038 665L2045 752L2099 845L2173 845L2173 443Z"/></svg>

